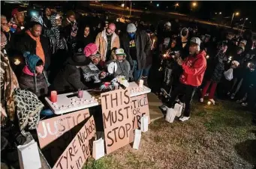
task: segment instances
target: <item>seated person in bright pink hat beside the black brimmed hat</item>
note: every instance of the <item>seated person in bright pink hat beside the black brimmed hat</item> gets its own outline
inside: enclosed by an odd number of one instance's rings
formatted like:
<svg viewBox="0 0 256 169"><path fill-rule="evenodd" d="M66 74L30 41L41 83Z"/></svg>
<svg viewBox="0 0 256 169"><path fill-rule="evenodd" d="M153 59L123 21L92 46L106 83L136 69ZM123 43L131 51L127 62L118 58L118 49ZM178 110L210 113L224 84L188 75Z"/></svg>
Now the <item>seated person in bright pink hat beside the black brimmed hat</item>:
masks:
<svg viewBox="0 0 256 169"><path fill-rule="evenodd" d="M84 49L84 54L89 58L89 64L81 67L83 78L86 82L100 83L101 79L107 76L103 70L104 64L101 62L101 54L98 53L98 47L94 43L89 43Z"/></svg>

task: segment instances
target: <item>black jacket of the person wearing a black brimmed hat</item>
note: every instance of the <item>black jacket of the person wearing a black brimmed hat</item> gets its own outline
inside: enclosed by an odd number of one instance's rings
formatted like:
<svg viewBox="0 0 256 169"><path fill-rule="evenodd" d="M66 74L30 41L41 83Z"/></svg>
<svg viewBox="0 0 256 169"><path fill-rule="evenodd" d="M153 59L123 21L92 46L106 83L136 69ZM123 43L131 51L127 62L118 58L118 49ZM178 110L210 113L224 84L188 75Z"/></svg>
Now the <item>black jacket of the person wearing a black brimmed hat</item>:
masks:
<svg viewBox="0 0 256 169"><path fill-rule="evenodd" d="M66 64L65 67L60 70L56 79L53 81L53 88L59 93L68 93L77 91L80 88L86 89L87 87L81 82L80 68L71 64Z"/></svg>

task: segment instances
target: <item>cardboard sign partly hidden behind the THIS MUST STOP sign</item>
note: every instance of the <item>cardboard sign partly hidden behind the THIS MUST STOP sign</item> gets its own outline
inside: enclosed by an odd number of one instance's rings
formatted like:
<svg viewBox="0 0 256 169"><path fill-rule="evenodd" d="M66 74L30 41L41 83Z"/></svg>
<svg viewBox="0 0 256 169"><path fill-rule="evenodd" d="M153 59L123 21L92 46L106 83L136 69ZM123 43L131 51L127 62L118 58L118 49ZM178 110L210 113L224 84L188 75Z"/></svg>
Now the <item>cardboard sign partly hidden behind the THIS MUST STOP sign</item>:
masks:
<svg viewBox="0 0 256 169"><path fill-rule="evenodd" d="M143 114L149 117L149 101L148 96L146 94L131 97L131 112L133 114L133 129L138 129L140 127L140 119L143 116Z"/></svg>

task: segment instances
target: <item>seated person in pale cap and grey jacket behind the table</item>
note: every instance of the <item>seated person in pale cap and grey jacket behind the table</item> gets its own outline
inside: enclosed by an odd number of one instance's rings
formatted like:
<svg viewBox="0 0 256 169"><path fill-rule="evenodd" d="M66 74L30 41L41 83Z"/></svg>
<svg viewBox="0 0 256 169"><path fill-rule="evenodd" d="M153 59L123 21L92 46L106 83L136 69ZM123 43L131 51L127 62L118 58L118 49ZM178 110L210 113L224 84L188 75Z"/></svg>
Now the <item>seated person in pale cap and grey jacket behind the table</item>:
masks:
<svg viewBox="0 0 256 169"><path fill-rule="evenodd" d="M125 79L129 79L130 75L131 75L131 67L129 62L125 59L126 58L126 54L124 49L115 49L113 50L113 52L111 53L111 61L109 61L107 63L107 66L110 65L111 67L111 63L114 63L117 65L117 67L113 67L113 69L116 70L111 70L111 74L113 74L114 77L116 76L125 76Z"/></svg>

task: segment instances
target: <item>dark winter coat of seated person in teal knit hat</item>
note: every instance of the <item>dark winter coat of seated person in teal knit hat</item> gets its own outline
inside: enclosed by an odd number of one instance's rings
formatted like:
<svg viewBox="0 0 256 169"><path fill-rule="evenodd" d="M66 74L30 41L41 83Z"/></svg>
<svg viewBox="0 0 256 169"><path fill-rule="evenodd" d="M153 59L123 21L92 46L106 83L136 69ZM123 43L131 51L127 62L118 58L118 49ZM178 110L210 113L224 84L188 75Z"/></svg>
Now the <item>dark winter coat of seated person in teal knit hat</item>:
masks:
<svg viewBox="0 0 256 169"><path fill-rule="evenodd" d="M35 95L40 97L47 96L48 83L46 73L38 74L35 76L29 68L26 66L23 69L23 73L20 76L20 88L23 90L29 90Z"/></svg>

